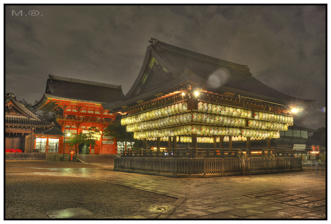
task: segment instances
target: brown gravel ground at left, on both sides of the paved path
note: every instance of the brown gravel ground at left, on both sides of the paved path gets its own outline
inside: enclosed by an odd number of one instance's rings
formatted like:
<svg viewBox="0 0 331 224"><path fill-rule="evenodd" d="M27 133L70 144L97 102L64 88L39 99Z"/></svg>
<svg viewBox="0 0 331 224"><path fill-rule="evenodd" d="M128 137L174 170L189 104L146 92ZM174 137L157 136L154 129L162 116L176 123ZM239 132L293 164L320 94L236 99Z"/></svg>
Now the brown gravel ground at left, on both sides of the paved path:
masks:
<svg viewBox="0 0 331 224"><path fill-rule="evenodd" d="M38 168L99 167L63 161L6 162L6 173L41 172ZM47 175L6 175L5 218L48 219L46 211L83 207L92 215L78 219L95 219L158 211L176 199L83 177Z"/></svg>

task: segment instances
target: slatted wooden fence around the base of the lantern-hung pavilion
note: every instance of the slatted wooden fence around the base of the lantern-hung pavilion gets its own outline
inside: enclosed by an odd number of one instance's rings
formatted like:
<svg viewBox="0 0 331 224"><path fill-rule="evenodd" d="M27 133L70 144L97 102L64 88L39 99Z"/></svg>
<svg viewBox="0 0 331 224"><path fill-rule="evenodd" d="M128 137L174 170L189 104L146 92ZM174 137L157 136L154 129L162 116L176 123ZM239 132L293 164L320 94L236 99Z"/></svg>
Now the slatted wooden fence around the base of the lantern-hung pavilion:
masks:
<svg viewBox="0 0 331 224"><path fill-rule="evenodd" d="M141 158L116 157L114 170L160 175L250 175L302 170L301 158Z"/></svg>

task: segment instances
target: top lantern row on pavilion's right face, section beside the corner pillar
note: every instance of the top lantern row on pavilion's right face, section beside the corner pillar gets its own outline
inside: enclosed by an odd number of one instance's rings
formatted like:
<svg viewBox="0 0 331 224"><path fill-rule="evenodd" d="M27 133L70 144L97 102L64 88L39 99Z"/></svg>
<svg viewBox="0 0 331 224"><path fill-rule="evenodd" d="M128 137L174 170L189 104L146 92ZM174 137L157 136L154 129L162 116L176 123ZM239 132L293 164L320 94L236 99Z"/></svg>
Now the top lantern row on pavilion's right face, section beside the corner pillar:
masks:
<svg viewBox="0 0 331 224"><path fill-rule="evenodd" d="M252 117L252 111L250 110L228 107L228 106L220 106L211 103L202 103L202 102L198 103L198 111L204 113L213 113L218 115L240 117L240 118Z"/></svg>

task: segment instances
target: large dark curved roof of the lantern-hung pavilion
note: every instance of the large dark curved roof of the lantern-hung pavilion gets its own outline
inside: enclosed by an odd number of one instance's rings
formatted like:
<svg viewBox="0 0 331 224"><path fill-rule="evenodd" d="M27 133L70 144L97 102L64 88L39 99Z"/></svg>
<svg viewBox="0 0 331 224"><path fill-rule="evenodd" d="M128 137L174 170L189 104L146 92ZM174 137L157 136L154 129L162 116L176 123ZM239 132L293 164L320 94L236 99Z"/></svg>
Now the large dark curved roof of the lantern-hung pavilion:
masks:
<svg viewBox="0 0 331 224"><path fill-rule="evenodd" d="M229 92L281 105L298 102L303 107L310 107L316 101L296 98L263 84L252 76L247 65L199 54L155 38L151 38L150 43L139 75L129 92L122 101L103 104L105 109L119 109L186 83L196 84L213 93ZM160 71L166 71L168 76ZM218 86L208 82L212 75L220 78Z"/></svg>

